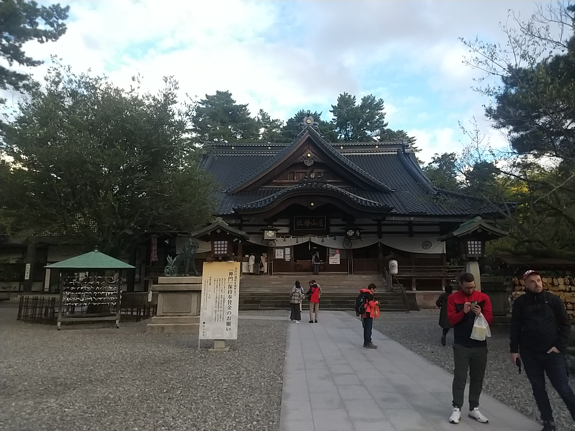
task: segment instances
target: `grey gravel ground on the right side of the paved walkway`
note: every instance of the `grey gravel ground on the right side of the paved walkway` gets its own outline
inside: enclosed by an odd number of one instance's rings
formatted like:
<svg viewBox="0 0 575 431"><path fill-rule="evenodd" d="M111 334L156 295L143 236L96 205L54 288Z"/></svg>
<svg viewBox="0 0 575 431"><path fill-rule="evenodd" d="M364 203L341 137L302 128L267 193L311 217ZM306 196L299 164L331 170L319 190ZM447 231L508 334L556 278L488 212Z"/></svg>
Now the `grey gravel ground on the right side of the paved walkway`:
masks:
<svg viewBox="0 0 575 431"><path fill-rule="evenodd" d="M382 313L382 317L395 317L392 314L405 316L406 313ZM355 313L354 313L355 315ZM435 315L439 319L439 310L412 311L408 315ZM447 371L453 372L453 330L447 335L447 346L440 344L441 328L437 321L433 322L378 322L374 321L374 329L386 334L401 343L411 351L425 357L432 363ZM517 368L509 362L509 326L493 325L491 338L488 340L489 356L483 384L484 392L520 411L520 413L538 422L539 410L535 405L531 385L525 372L517 374ZM575 388L575 380L569 378L571 387ZM573 420L569 411L559 398L559 395L549 380L547 392L555 416L558 431L573 429ZM446 406L446 411L450 406Z"/></svg>

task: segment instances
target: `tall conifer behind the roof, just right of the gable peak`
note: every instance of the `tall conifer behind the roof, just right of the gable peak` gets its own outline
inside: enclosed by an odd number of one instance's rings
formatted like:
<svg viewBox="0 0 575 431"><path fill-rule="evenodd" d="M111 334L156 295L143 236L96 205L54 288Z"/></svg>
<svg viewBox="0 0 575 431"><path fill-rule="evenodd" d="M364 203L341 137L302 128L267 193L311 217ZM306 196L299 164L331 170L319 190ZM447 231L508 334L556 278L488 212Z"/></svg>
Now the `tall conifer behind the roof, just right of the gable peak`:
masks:
<svg viewBox="0 0 575 431"><path fill-rule="evenodd" d="M338 136L346 142L377 140L379 131L385 129L384 99L373 94L363 96L359 104L355 96L340 94L336 105L331 106Z"/></svg>

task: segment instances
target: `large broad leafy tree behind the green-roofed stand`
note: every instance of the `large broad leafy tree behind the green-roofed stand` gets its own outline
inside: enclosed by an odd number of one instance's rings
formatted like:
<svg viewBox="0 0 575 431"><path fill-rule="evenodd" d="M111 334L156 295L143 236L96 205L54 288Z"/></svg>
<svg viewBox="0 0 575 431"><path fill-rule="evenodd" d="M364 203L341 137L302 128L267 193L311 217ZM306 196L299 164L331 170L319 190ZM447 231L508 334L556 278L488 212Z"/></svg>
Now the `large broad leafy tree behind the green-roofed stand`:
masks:
<svg viewBox="0 0 575 431"><path fill-rule="evenodd" d="M119 256L210 217L211 181L187 137L177 83L158 94L51 68L2 126L7 233L56 234Z"/></svg>

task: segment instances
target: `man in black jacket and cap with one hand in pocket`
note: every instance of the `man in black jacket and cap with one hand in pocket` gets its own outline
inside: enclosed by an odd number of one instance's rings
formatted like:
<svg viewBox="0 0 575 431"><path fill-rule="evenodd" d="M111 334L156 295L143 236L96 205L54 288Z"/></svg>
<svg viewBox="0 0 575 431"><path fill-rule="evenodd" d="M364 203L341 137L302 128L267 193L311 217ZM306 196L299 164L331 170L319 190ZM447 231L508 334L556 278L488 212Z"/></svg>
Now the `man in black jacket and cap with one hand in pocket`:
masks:
<svg viewBox="0 0 575 431"><path fill-rule="evenodd" d="M541 413L542 431L555 431L553 411L545 390L545 373L575 420L575 394L569 386L563 350L571 325L563 302L543 291L537 271L523 274L526 293L515 299L511 314L511 362L519 355Z"/></svg>

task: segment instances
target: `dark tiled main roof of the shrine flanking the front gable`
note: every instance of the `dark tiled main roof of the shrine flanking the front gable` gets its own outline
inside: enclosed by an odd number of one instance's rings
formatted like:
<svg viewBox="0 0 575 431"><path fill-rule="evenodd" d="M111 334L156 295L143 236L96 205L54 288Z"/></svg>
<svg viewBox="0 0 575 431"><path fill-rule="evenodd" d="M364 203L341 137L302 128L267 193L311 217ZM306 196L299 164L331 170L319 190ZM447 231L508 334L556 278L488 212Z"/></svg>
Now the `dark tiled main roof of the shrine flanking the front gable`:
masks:
<svg viewBox="0 0 575 431"><path fill-rule="evenodd" d="M315 132L313 132L315 133ZM322 140L323 141L323 140ZM373 187L338 188L342 197L348 193L359 199L366 199L386 207L393 207L390 215L402 216L496 216L497 207L487 205L480 198L440 190L431 184L421 172L415 155L405 151L401 143L335 143L328 144L330 152L336 153L338 160L364 178L373 178L368 183ZM375 145L380 148L375 148ZM285 155L292 144L222 144L213 145L213 150L205 156L204 166L212 173L218 183L215 194L217 213L233 214L236 207L268 205L273 199L282 197L282 193L294 191L297 184L289 189L277 187L259 187L255 190L241 190L230 193L237 184L253 180L273 166ZM231 147L234 147L233 149ZM340 147L344 147L343 149ZM365 172L365 175L363 174ZM375 184L385 184L382 189ZM387 191L392 189L393 191ZM301 190L301 189L300 189ZM331 188L329 190L332 190ZM348 198L352 198L348 196ZM354 201L356 202L356 201ZM366 202L367 205L367 202ZM383 211L382 211L383 212Z"/></svg>

